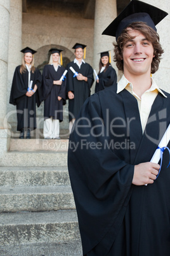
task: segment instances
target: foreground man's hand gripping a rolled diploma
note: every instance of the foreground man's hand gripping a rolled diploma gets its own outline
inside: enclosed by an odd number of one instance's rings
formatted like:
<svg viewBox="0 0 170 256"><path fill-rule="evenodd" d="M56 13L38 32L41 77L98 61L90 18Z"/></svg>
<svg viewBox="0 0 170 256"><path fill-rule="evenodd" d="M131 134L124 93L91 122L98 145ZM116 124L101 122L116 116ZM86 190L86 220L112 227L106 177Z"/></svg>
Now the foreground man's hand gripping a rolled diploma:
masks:
<svg viewBox="0 0 170 256"><path fill-rule="evenodd" d="M154 183L159 173L159 168L160 165L153 162L143 162L134 166L132 183L137 186Z"/></svg>

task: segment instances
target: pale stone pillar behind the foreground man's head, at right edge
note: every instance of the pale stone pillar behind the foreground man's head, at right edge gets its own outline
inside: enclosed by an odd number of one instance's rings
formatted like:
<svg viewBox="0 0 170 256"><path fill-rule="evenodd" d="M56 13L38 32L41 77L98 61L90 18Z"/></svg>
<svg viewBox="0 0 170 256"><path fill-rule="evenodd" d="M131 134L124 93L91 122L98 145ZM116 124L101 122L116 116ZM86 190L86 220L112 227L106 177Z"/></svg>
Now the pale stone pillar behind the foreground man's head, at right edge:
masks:
<svg viewBox="0 0 170 256"><path fill-rule="evenodd" d="M157 32L160 36L160 44L164 49L164 54L162 55L162 60L160 60L159 70L153 75L153 78L157 82L157 85L170 93L170 35L169 35L169 27L170 27L170 4L169 0L142 0L145 3L152 4L157 8L160 8L169 15L167 15L164 20L162 20L159 24L156 25Z"/></svg>

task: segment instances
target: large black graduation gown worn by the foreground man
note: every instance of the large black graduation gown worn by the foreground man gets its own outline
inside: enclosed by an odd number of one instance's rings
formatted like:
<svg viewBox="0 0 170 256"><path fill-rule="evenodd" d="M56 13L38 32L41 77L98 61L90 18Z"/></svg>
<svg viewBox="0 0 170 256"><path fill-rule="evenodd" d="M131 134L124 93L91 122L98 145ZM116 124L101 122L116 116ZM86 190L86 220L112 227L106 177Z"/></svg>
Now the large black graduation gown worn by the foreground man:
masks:
<svg viewBox="0 0 170 256"><path fill-rule="evenodd" d="M70 134L68 166L83 255L168 256L167 150L153 184L131 182L134 165L150 161L170 123L170 96L157 95L142 134L136 99L126 89L114 90L89 97Z"/></svg>

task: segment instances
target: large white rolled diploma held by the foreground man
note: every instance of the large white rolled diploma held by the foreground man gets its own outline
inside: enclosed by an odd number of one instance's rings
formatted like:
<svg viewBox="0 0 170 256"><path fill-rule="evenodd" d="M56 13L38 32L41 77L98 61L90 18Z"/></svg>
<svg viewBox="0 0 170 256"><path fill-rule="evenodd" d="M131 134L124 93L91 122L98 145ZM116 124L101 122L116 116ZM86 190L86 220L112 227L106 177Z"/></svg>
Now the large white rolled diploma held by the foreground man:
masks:
<svg viewBox="0 0 170 256"><path fill-rule="evenodd" d="M167 146L167 144L169 143L170 140L170 124L168 125L166 132L164 133L162 139L160 140L159 143L159 148L163 148L164 146ZM160 149L157 148L155 150L154 155L152 156L152 159L150 160L150 162L154 162L155 164L159 163L160 160ZM147 186L147 184L145 184L145 186Z"/></svg>

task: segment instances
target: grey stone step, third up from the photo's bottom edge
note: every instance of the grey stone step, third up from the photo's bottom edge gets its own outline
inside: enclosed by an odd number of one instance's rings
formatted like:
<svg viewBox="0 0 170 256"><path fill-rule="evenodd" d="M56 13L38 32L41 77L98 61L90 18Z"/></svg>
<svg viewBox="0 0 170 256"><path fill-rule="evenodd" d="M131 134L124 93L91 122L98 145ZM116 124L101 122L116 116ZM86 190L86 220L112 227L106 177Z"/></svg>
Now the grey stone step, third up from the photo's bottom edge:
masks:
<svg viewBox="0 0 170 256"><path fill-rule="evenodd" d="M0 212L52 211L75 209L69 185L1 187Z"/></svg>

